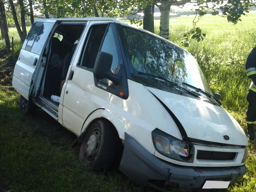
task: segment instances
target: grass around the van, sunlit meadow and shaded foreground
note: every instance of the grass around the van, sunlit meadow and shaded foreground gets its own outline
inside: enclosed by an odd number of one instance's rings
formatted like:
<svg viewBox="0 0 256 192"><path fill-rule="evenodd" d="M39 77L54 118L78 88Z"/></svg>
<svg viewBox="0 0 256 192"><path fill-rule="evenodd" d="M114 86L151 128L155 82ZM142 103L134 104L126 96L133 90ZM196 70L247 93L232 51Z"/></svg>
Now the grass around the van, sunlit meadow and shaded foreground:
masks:
<svg viewBox="0 0 256 192"><path fill-rule="evenodd" d="M223 107L244 130L245 97L250 84L244 66L256 44L255 17L256 14L249 14L233 25L222 17L205 16L197 24L207 34L205 40L191 41L187 48L200 64L212 92L221 94ZM181 45L182 35L191 29L192 20L192 16L170 19L170 40ZM155 20L155 30L158 33L159 20ZM119 171L103 173L86 169L78 160L79 148L70 147L76 136L43 111L37 111L33 117L21 115L19 94L11 87L21 46L15 29L10 29L11 37L14 37L14 56L0 58L0 192L153 191ZM5 47L3 40L0 50L1 47ZM255 142L249 141L248 172L238 183L217 191L256 191L255 152Z"/></svg>

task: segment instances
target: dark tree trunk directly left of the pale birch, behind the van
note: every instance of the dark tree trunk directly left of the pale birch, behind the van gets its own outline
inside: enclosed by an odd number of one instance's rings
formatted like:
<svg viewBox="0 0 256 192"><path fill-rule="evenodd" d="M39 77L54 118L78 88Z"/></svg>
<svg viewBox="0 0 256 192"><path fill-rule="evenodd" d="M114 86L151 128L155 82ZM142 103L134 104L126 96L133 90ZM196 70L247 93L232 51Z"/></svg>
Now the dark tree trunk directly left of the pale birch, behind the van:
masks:
<svg viewBox="0 0 256 192"><path fill-rule="evenodd" d="M143 29L154 33L154 3L143 10Z"/></svg>

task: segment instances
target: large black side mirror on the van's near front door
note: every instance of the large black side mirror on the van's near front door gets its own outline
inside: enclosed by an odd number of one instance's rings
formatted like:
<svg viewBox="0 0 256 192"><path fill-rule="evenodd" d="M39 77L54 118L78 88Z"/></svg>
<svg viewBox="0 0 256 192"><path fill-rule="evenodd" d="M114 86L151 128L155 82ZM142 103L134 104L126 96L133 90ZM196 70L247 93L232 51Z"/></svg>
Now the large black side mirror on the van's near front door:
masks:
<svg viewBox="0 0 256 192"><path fill-rule="evenodd" d="M115 75L111 72L111 65L113 61L113 55L100 51L97 55L93 75L96 79L104 79L107 78L110 81L116 82L118 80L119 75Z"/></svg>

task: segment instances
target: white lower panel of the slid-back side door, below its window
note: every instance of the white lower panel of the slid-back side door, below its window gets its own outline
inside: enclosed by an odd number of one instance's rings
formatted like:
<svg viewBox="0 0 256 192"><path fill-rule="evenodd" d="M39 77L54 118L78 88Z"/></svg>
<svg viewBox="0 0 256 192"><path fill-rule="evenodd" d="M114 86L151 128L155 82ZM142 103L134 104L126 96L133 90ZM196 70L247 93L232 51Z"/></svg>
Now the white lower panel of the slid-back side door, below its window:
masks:
<svg viewBox="0 0 256 192"><path fill-rule="evenodd" d="M29 99L32 75L36 67L33 65L35 58L39 58L39 55L21 49L13 73L12 86L27 100Z"/></svg>

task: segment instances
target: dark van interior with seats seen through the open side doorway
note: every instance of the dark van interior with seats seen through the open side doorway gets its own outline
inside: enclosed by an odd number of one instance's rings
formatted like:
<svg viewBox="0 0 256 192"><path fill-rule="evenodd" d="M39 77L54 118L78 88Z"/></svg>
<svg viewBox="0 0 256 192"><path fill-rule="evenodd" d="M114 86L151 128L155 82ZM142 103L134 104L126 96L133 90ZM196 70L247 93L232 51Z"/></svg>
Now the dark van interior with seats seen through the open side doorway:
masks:
<svg viewBox="0 0 256 192"><path fill-rule="evenodd" d="M44 80L45 97L60 96L61 82L66 79L76 45L84 30L82 24L60 25L50 40L50 53Z"/></svg>

